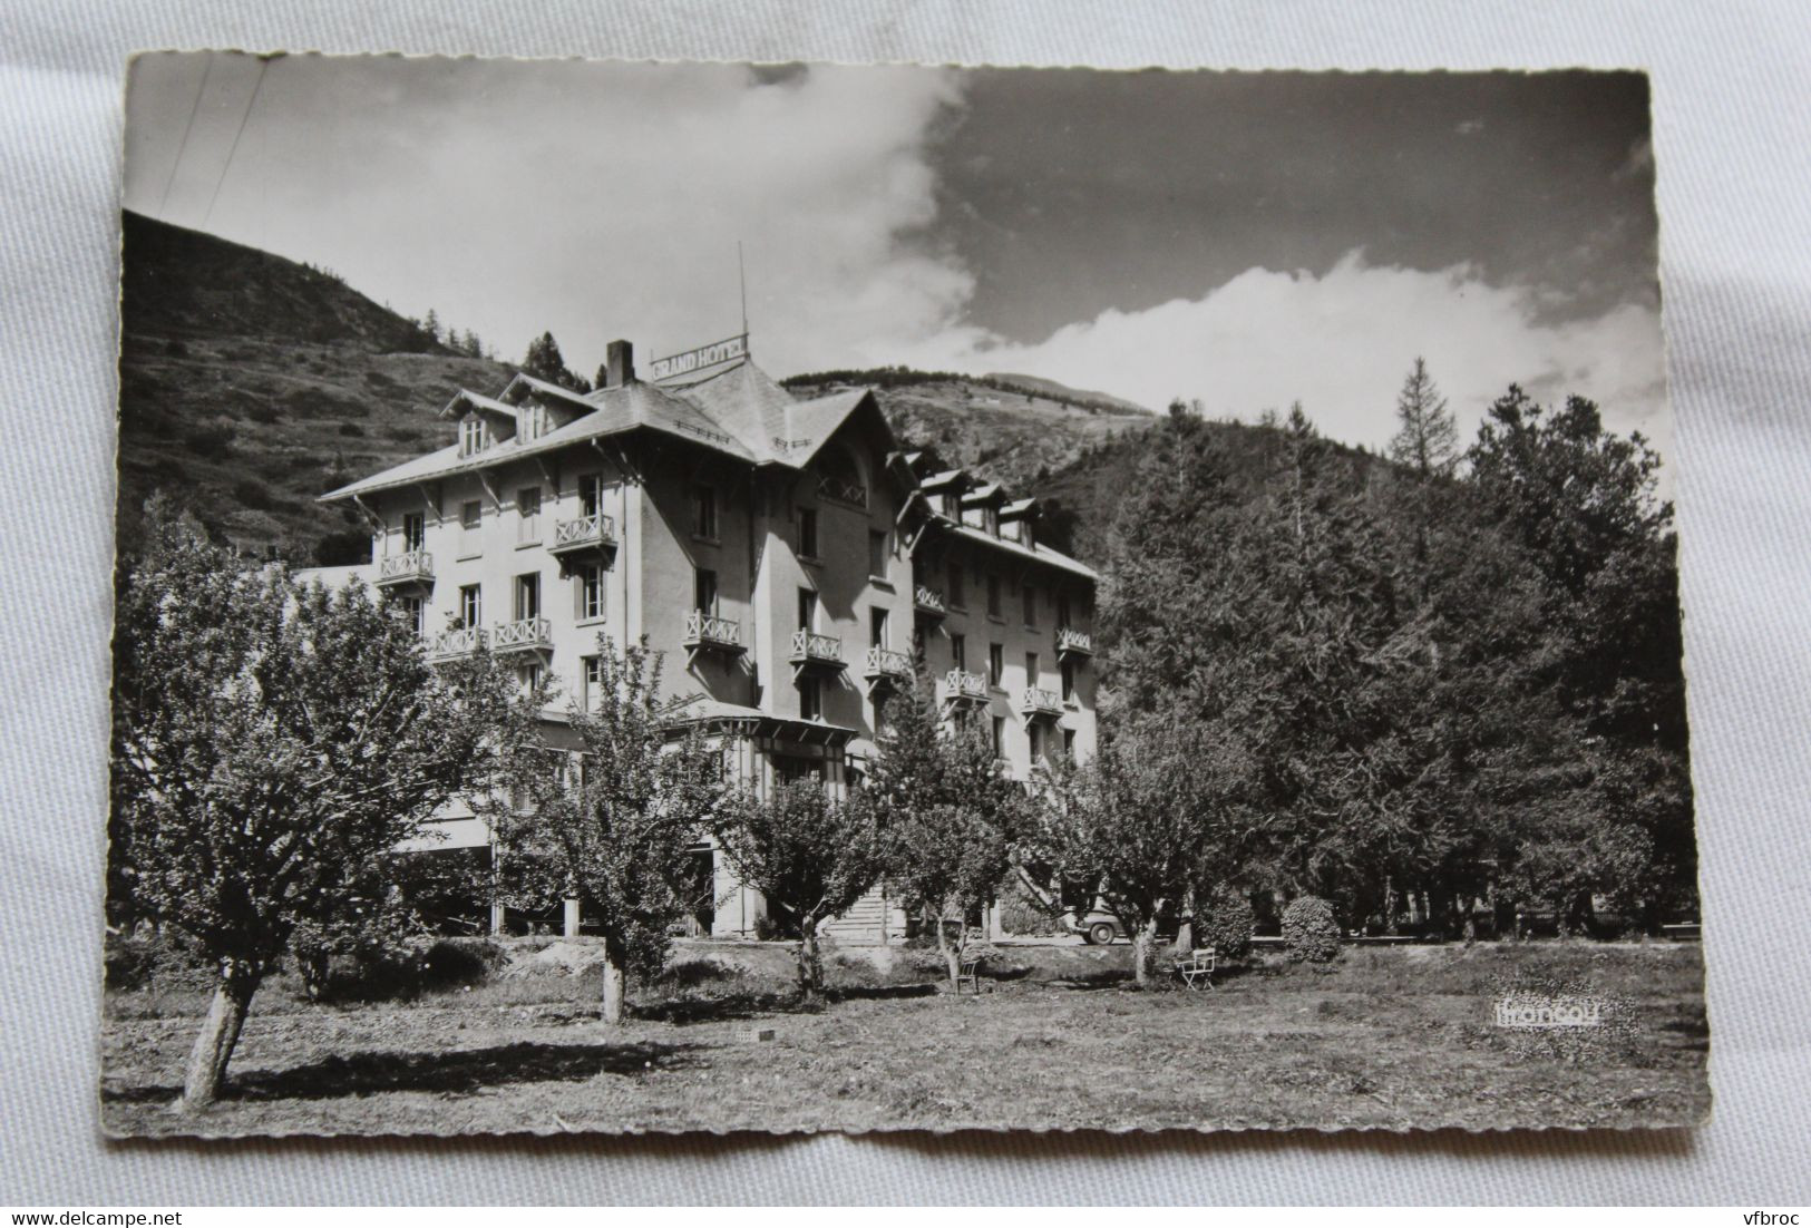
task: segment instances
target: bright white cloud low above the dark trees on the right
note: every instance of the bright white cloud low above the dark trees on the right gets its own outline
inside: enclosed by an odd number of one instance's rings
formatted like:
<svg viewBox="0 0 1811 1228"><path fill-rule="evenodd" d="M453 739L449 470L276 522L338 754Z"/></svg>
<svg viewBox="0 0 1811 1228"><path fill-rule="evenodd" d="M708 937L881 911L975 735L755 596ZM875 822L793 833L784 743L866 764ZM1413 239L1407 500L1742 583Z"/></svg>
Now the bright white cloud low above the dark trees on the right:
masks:
<svg viewBox="0 0 1811 1228"><path fill-rule="evenodd" d="M1253 268L1201 299L1105 312L1030 346L973 330L925 337L909 360L1023 371L1152 408L1199 397L1208 415L1246 420L1300 400L1326 435L1380 447L1420 355L1467 437L1518 382L1539 400L1590 397L1608 426L1670 455L1659 315L1626 304L1548 324L1536 308L1538 292L1490 286L1469 266L1380 268L1351 252L1318 277Z"/></svg>

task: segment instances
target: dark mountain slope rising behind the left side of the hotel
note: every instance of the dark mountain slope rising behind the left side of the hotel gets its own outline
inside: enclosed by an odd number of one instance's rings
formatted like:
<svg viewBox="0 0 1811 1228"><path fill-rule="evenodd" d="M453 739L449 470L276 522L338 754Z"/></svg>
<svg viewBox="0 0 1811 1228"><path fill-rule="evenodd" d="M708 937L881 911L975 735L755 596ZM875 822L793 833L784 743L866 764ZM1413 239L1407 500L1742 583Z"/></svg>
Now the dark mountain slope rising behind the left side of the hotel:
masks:
<svg viewBox="0 0 1811 1228"><path fill-rule="evenodd" d="M438 447L455 389L509 379L330 273L136 214L120 313L123 549L161 489L243 549L344 561L366 531L315 496Z"/></svg>

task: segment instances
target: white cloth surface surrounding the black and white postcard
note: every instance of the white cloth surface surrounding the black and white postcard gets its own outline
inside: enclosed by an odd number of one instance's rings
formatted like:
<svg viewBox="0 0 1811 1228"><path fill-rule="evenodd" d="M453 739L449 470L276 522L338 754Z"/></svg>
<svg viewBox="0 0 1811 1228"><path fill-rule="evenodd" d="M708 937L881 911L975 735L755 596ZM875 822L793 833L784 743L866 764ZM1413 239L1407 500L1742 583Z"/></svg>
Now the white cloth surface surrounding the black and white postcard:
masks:
<svg viewBox="0 0 1811 1228"><path fill-rule="evenodd" d="M141 47L1652 69L1715 1123L1610 1136L101 1141L120 92ZM1807 80L1802 0L5 5L0 1201L1811 1201Z"/></svg>

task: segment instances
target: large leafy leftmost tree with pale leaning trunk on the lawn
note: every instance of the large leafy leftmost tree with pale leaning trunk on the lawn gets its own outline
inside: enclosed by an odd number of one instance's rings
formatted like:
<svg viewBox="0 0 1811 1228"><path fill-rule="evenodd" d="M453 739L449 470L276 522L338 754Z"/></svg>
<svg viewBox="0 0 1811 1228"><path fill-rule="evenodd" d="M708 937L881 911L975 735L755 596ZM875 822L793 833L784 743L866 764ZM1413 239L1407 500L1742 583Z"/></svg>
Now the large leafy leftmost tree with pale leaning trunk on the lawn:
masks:
<svg viewBox="0 0 1811 1228"><path fill-rule="evenodd" d="M482 654L427 665L364 587L297 585L192 520L150 522L118 600L112 853L217 971L183 1081L201 1108L297 926L342 922L378 855L491 781L516 705Z"/></svg>

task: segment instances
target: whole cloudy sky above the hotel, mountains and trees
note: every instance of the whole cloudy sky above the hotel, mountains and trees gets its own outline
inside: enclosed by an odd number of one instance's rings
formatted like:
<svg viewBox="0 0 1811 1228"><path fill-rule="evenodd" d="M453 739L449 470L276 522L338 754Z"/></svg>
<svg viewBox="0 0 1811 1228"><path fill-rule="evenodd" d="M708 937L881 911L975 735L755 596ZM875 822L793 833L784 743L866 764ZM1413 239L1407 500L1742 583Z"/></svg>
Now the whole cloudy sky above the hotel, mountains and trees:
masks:
<svg viewBox="0 0 1811 1228"><path fill-rule="evenodd" d="M1380 446L1577 391L1670 451L1635 74L1212 74L159 54L127 206L592 371L1020 371Z"/></svg>

